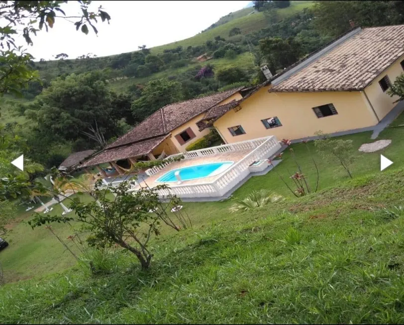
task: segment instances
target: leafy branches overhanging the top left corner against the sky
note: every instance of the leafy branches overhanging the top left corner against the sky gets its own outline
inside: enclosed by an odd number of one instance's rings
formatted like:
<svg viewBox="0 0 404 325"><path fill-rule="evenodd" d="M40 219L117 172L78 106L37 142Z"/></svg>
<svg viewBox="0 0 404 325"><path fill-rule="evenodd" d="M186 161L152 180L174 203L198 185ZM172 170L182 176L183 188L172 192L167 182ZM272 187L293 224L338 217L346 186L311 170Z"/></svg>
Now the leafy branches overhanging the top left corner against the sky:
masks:
<svg viewBox="0 0 404 325"><path fill-rule="evenodd" d="M29 6L21 5L20 2L6 1L7 5L0 8L0 16L4 18L0 26L0 96L4 93L20 95L21 88L39 77L28 65L33 57L15 44L16 35L22 35L26 43L32 45L31 35L36 35L43 27L48 31L58 18L78 19L74 22L76 30L80 28L85 34L89 32L88 26L98 33L93 23L98 18L108 22L110 19L101 7L98 11L90 11L91 1L75 1L79 4L81 13L72 17L67 17L61 8L67 1L30 1Z"/></svg>

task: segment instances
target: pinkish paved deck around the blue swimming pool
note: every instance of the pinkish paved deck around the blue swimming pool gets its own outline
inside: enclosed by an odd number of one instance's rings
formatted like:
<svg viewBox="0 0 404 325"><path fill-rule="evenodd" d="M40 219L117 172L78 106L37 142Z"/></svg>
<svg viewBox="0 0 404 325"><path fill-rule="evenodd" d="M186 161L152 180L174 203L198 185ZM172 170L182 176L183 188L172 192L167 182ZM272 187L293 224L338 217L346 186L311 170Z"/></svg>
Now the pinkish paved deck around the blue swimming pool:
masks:
<svg viewBox="0 0 404 325"><path fill-rule="evenodd" d="M162 184L167 184L169 186L178 185L177 182L160 183L160 182L156 182L156 180L160 176L169 172L170 170L177 169L177 168L184 168L184 167L189 167L189 166L194 166L194 165L209 164L209 163L215 163L215 162L225 162L225 161L234 161L234 163L237 163L238 161L243 159L246 155L248 155L251 151L252 151L252 149L245 149L245 150L225 152L225 153L211 155L211 156L204 156L204 157L197 157L197 158L192 158L192 159L183 159L181 161L176 161L176 162L173 162L170 165L166 166L165 168L163 168L162 170L160 170L153 176L150 176L146 180L141 181L140 186L144 187L144 186L148 185L149 187L155 187L157 185L162 185ZM211 177L198 178L195 180L183 181L181 183L181 185L195 185L195 184L201 184L201 183L209 183L209 182L213 182L220 176L221 176L221 174L211 176ZM138 189L138 188L139 188L139 186L136 187L136 189Z"/></svg>

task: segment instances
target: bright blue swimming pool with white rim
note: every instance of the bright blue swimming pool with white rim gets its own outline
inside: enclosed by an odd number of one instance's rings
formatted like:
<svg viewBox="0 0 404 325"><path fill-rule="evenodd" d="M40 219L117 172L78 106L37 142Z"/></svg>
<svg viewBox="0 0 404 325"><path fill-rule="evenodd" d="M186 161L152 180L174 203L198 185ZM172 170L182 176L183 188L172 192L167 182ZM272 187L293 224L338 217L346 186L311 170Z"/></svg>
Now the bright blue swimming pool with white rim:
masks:
<svg viewBox="0 0 404 325"><path fill-rule="evenodd" d="M227 168L229 168L234 161L223 161L218 163L210 163L203 165L194 165L189 167L177 168L170 170L165 173L163 176L160 176L156 182L177 182L177 178L175 177L175 172L180 172L181 180L189 181L198 178L204 178L209 176L215 176L222 172L224 172Z"/></svg>

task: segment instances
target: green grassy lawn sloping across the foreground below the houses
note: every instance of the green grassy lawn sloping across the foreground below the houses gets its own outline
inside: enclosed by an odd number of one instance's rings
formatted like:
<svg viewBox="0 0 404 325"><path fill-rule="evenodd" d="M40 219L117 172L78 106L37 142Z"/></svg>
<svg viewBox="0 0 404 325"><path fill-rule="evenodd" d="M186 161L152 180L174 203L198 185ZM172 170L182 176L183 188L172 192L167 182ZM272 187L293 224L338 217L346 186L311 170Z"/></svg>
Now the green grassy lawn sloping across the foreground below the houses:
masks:
<svg viewBox="0 0 404 325"><path fill-rule="evenodd" d="M403 118L403 116L400 116ZM392 144L357 151L350 180L335 161L323 161L320 191L291 195L277 173L253 177L234 193L266 188L286 197L248 213L230 213L233 200L187 203L193 229L162 228L151 243L155 257L141 272L115 251L114 271L90 276L77 267L46 229L19 223L0 253L5 273L37 278L0 289L4 323L403 323L404 128L378 139ZM292 146L312 184L315 170L304 144ZM380 154L394 161L379 171ZM296 167L288 150L276 170ZM387 212L380 209L387 208ZM59 211L60 212L60 211ZM68 226L55 228L63 236ZM20 244L23 243L23 244ZM133 264L135 263L135 264ZM39 279L40 276L46 276ZM12 298L11 298L12 297ZM178 324L177 323L177 324Z"/></svg>

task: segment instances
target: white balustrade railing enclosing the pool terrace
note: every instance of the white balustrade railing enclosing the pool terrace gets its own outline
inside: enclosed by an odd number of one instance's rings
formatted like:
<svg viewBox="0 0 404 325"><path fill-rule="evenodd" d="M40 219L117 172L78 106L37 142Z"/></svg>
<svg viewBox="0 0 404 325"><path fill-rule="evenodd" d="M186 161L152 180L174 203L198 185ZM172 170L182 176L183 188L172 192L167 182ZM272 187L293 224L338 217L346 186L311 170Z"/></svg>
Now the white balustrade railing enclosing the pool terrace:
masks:
<svg viewBox="0 0 404 325"><path fill-rule="evenodd" d="M269 136L219 147L187 152L185 155L190 154L192 156L188 156L188 158L192 158L226 151L253 149L243 159L229 167L221 176L212 182L190 185L173 185L170 186L169 189L160 190L159 195L163 197L172 194L177 195L180 198L221 197L230 191L235 185L241 182L250 173L248 167L254 161L269 158L273 156L280 148L281 145L277 141L276 137Z"/></svg>

